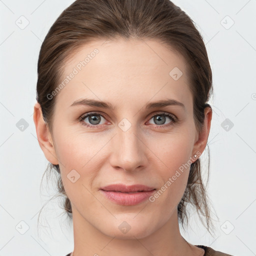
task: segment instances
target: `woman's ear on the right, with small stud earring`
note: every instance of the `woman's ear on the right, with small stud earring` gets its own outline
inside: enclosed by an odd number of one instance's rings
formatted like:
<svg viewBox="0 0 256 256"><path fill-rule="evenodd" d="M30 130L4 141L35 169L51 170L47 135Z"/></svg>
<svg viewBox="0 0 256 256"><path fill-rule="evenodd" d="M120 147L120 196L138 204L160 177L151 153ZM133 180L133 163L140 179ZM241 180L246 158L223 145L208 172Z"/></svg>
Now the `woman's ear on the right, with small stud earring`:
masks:
<svg viewBox="0 0 256 256"><path fill-rule="evenodd" d="M209 132L210 132L210 124L212 117L212 109L207 106L204 108L204 123L200 133L197 135L197 140L194 143L194 147L192 150L192 154L197 154L197 158L202 154L203 150L206 147ZM194 159L194 158L193 158Z"/></svg>

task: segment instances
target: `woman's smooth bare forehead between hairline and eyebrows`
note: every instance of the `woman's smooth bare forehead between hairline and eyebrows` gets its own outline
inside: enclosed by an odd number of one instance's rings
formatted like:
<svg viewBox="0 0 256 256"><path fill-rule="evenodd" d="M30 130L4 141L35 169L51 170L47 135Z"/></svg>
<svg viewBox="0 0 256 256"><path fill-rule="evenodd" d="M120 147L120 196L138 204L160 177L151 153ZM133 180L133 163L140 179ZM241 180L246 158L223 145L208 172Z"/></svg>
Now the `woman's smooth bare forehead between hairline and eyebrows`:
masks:
<svg viewBox="0 0 256 256"><path fill-rule="evenodd" d="M95 40L65 61L57 102L89 97L118 106L168 96L189 103L187 68L181 54L156 40Z"/></svg>

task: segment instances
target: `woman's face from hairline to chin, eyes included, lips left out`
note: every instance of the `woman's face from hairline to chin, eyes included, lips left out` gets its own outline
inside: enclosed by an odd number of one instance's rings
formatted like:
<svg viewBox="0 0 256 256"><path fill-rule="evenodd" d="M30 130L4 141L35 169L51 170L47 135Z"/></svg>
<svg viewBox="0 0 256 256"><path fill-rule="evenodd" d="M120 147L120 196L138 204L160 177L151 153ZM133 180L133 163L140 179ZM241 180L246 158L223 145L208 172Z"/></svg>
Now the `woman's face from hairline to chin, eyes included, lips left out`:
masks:
<svg viewBox="0 0 256 256"><path fill-rule="evenodd" d="M144 237L176 212L191 157L205 144L196 143L188 66L181 55L154 40L102 43L84 45L66 62L62 80L75 74L54 95L53 146L44 153L59 164L73 220L109 236ZM79 65L88 54L86 65ZM77 103L83 99L87 104ZM179 103L151 104L166 100ZM137 203L134 195L127 205L101 190L117 183L155 190Z"/></svg>

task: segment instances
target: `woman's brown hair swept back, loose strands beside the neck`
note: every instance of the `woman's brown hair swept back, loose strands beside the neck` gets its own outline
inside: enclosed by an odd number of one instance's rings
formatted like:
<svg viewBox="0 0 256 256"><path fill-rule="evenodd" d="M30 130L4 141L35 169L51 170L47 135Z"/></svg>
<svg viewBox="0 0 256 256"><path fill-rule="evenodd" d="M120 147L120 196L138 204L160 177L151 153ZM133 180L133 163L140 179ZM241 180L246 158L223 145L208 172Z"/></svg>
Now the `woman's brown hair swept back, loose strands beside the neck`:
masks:
<svg viewBox="0 0 256 256"><path fill-rule="evenodd" d="M47 94L60 82L65 61L92 40L117 37L158 40L184 56L193 95L194 121L199 132L204 121L204 108L211 108L206 103L212 92L211 68L202 36L193 21L169 0L76 0L60 14L42 42L37 66L36 100L49 131L52 131L56 96L49 100ZM45 172L48 169L56 171L58 194L64 196L63 208L72 218L59 165L49 163ZM208 177L209 173L206 185ZM213 227L205 188L200 159L197 159L190 165L187 186L177 206L182 227L185 219L187 224L187 203L196 208L201 221L200 213L205 216L209 232Z"/></svg>

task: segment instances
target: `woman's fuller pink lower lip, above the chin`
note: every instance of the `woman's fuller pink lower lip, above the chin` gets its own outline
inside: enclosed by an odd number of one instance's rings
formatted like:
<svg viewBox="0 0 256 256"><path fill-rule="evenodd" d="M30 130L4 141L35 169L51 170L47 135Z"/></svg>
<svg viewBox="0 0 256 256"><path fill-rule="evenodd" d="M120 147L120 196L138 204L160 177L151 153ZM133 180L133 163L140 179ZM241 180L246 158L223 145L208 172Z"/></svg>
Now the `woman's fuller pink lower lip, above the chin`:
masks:
<svg viewBox="0 0 256 256"><path fill-rule="evenodd" d="M121 205L135 205L146 200L154 191L140 191L134 193L123 193L117 191L105 191L100 189L105 197L117 204Z"/></svg>

